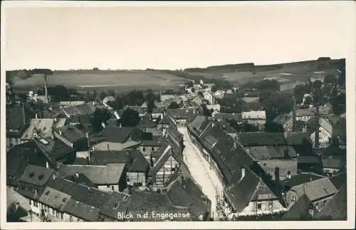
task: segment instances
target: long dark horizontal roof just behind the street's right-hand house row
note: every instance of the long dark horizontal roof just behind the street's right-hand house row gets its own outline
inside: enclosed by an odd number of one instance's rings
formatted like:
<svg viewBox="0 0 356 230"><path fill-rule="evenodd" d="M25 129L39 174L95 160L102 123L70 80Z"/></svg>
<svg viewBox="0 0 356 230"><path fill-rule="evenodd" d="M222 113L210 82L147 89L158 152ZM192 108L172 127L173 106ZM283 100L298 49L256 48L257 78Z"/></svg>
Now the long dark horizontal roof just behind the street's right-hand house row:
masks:
<svg viewBox="0 0 356 230"><path fill-rule="evenodd" d="M244 146L286 145L283 132L240 132L237 136Z"/></svg>

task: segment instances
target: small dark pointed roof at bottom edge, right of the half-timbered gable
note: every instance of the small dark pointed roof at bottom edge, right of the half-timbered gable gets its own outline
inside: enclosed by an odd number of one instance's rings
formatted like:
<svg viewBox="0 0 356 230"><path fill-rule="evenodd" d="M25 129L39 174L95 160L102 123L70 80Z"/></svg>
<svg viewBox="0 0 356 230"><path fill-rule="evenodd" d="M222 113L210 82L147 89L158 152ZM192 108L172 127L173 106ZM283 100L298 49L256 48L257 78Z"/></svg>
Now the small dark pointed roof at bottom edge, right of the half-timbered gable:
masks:
<svg viewBox="0 0 356 230"><path fill-rule="evenodd" d="M284 221L311 221L312 217L309 214L309 209L313 203L310 202L310 199L303 194L295 204L293 204L288 211L282 216ZM316 213L315 207L313 207L314 213Z"/></svg>

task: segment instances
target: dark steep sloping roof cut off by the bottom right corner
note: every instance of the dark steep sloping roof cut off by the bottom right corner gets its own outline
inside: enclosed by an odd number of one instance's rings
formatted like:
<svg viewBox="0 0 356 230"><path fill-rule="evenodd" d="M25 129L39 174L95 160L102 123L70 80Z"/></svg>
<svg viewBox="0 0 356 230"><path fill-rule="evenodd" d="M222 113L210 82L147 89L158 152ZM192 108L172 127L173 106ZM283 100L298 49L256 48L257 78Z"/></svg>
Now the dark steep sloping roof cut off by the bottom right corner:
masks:
<svg viewBox="0 0 356 230"><path fill-rule="evenodd" d="M321 211L316 214L315 220L347 220L347 187L346 184L337 191L334 197Z"/></svg>

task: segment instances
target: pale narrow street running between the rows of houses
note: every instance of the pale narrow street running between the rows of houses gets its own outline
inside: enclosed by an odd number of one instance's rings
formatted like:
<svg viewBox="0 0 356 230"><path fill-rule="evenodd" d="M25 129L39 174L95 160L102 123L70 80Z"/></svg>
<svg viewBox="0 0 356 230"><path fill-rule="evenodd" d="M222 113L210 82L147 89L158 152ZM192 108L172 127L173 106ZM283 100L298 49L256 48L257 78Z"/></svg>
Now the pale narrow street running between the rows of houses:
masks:
<svg viewBox="0 0 356 230"><path fill-rule="evenodd" d="M178 127L179 132L184 135L184 162L192 174L192 177L201 186L202 192L211 200L211 214L214 221L219 220L216 212L216 194L222 192L222 184L214 170L210 169L209 162L199 152L199 149L189 138L187 127Z"/></svg>

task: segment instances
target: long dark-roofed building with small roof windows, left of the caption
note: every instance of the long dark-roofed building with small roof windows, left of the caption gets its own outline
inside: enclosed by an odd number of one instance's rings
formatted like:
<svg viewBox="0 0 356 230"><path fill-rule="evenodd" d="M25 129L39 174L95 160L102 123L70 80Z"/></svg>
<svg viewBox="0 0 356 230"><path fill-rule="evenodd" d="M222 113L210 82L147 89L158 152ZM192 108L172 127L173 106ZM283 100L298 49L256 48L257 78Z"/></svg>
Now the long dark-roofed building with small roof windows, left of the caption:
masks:
<svg viewBox="0 0 356 230"><path fill-rule="evenodd" d="M103 192L93 187L53 177L40 197L41 217L49 221L123 221L130 196Z"/></svg>

